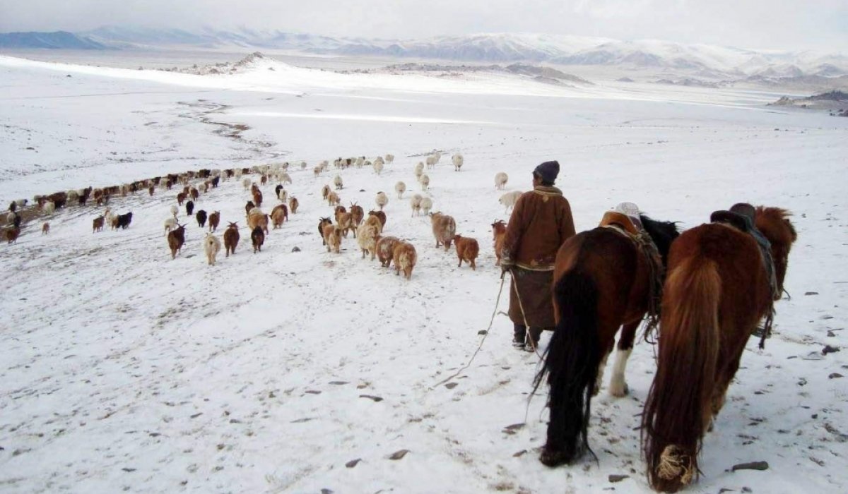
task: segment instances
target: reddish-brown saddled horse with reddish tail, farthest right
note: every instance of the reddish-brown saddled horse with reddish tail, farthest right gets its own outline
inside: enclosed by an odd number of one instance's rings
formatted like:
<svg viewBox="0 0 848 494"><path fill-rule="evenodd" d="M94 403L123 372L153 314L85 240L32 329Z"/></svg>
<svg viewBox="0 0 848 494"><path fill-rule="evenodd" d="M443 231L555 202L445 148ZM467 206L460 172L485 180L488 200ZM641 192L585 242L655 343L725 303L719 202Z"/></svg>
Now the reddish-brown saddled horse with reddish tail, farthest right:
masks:
<svg viewBox="0 0 848 494"><path fill-rule="evenodd" d="M724 404L745 342L764 316L768 325L783 292L797 239L789 215L762 206L754 212L756 229L771 243L776 290L759 245L742 230L711 223L674 241L656 375L642 416L648 480L657 491L678 491L698 475L701 441Z"/></svg>

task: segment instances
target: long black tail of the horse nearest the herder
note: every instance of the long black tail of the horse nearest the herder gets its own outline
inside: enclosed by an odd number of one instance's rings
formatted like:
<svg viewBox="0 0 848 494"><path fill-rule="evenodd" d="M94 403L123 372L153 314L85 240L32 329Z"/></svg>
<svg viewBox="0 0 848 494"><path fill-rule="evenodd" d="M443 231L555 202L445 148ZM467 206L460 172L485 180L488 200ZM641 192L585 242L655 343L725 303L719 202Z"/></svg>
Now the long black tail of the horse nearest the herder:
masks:
<svg viewBox="0 0 848 494"><path fill-rule="evenodd" d="M598 337L598 288L589 275L568 271L554 286L559 315L534 391L548 376L550 422L542 463L571 463L589 448L589 408L602 349Z"/></svg>

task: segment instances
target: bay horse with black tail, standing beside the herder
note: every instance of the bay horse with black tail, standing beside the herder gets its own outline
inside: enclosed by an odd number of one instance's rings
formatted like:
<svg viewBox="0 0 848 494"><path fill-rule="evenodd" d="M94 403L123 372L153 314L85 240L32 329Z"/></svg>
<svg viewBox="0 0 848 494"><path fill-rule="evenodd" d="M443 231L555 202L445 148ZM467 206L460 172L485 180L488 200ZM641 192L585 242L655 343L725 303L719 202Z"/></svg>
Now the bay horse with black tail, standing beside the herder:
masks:
<svg viewBox="0 0 848 494"><path fill-rule="evenodd" d="M641 232L627 216L624 219L619 223L628 223L629 233L621 225L599 226L572 236L556 254L552 293L556 330L534 380L534 391L545 375L550 386L550 422L539 457L550 467L591 452L587 432L592 397L600 390L618 329L623 325L610 394L622 397L628 392L624 369L636 330L645 314L653 313L656 319L663 265L678 229L673 222L639 215Z"/></svg>

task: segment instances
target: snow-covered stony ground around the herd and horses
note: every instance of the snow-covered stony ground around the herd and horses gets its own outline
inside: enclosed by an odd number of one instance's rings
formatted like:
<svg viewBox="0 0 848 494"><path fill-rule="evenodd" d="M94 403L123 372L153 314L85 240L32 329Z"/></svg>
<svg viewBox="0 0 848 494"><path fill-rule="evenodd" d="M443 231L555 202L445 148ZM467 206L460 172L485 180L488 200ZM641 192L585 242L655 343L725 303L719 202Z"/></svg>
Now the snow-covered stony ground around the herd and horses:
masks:
<svg viewBox="0 0 848 494"><path fill-rule="evenodd" d="M196 76L0 57L0 86L3 204L187 169L310 165L290 172L301 207L262 253L249 247L240 182L200 198L222 225L242 226L236 255L215 267L185 214L187 243L170 259L163 220L176 191L115 197L111 208L133 212L127 230L92 234L102 209L70 207L47 219L48 236L39 220L0 248L2 491L650 491L637 429L649 345L633 352L631 395L604 389L594 401L597 463L538 463L538 358L510 346L502 314L470 368L438 385L494 312L489 224L508 218L494 174L528 190L547 159L562 164L577 230L622 201L683 228L739 201L795 213L792 298L778 303L765 351L750 342L688 491L845 491L848 358L822 349L848 336L848 119L765 108L777 93L267 61ZM237 124L249 129L227 136ZM445 156L427 193L480 241L477 271L435 248L429 221L393 193L385 233L416 246L412 280L360 258L352 238L326 253L316 225L332 208L320 190L336 172L315 178L318 161L393 153L380 176L341 172L343 203L367 210L398 180L406 196L420 192L412 170L433 149ZM275 185L263 188L269 211ZM770 468L730 471L755 460Z"/></svg>

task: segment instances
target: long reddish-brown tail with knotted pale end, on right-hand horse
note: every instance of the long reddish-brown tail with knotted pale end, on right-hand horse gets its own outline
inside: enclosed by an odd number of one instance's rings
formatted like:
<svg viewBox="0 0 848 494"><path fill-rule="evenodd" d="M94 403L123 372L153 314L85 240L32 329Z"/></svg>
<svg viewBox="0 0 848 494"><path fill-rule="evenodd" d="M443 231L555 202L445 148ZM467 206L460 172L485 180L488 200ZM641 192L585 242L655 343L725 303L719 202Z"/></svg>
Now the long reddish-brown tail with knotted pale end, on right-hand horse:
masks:
<svg viewBox="0 0 848 494"><path fill-rule="evenodd" d="M657 491L678 491L698 475L712 418L720 297L721 278L708 258L686 259L666 280L656 375L642 414L648 480Z"/></svg>

